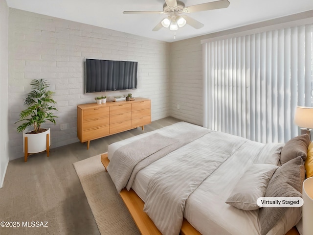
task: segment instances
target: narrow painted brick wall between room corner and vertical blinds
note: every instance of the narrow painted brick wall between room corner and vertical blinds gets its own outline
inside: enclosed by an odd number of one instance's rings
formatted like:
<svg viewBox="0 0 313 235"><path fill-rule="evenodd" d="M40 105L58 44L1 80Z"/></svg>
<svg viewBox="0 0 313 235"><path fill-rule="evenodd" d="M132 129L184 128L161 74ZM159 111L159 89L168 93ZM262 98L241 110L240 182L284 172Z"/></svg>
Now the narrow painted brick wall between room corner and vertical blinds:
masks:
<svg viewBox="0 0 313 235"><path fill-rule="evenodd" d="M205 36L174 42L170 48L170 116L197 125L202 125L203 38Z"/></svg>

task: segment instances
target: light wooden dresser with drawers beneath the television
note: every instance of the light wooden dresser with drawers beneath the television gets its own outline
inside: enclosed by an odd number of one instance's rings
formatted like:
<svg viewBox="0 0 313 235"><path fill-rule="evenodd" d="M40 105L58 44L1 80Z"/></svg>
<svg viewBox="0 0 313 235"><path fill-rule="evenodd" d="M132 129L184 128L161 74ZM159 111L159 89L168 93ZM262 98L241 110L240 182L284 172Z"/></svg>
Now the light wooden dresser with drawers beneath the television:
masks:
<svg viewBox="0 0 313 235"><path fill-rule="evenodd" d="M77 105L77 136L87 142L151 123L151 100L90 103Z"/></svg>

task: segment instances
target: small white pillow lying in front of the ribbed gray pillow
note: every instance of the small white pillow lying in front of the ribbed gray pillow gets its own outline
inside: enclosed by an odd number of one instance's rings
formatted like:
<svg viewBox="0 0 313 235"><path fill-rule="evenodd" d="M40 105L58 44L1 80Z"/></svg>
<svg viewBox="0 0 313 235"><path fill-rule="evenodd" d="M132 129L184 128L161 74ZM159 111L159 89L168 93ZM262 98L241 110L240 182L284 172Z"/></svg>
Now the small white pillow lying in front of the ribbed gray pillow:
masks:
<svg viewBox="0 0 313 235"><path fill-rule="evenodd" d="M226 203L245 211L259 209L256 201L265 196L268 182L277 168L273 164L252 165L240 178Z"/></svg>

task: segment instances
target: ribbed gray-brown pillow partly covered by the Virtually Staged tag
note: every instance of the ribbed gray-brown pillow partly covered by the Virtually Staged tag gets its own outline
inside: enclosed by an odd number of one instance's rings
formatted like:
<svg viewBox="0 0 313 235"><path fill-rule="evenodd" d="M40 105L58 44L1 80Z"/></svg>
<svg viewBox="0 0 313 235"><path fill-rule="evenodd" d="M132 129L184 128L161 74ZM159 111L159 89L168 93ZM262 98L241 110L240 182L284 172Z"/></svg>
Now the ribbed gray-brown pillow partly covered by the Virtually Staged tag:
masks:
<svg viewBox="0 0 313 235"><path fill-rule="evenodd" d="M305 177L303 160L299 156L279 167L268 183L266 197L302 197ZM263 207L259 211L261 235L266 235L282 218L287 207ZM294 226L294 225L292 225Z"/></svg>

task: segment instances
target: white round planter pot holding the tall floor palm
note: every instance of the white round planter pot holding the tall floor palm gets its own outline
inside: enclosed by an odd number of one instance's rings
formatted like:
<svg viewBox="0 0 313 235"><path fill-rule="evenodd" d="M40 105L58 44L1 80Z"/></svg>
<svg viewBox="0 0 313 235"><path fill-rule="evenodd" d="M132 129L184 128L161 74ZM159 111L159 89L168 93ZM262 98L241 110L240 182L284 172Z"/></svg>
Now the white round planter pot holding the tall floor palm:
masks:
<svg viewBox="0 0 313 235"><path fill-rule="evenodd" d="M25 129L23 131L23 151L25 149L25 137L27 137L28 153L40 153L46 150L46 136L49 134L49 146L51 145L50 141L50 128L45 132L38 133L38 134L26 134L27 132L32 131L32 128Z"/></svg>

